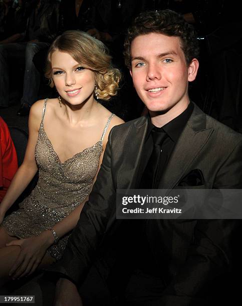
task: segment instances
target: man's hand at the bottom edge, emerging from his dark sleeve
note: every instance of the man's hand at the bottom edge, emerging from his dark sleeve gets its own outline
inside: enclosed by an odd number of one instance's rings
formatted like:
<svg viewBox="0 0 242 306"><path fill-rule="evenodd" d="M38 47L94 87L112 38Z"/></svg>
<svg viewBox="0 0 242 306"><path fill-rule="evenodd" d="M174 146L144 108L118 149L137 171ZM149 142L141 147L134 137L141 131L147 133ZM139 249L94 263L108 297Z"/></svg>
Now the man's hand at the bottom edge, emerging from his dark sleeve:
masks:
<svg viewBox="0 0 242 306"><path fill-rule="evenodd" d="M69 279L58 280L54 306L83 306L76 285Z"/></svg>

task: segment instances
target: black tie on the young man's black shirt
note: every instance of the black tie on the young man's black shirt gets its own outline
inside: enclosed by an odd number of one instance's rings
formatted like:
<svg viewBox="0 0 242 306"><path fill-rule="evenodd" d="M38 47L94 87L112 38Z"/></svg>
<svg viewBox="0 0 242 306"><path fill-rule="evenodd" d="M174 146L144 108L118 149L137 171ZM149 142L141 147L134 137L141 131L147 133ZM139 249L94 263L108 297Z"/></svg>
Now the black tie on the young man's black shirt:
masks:
<svg viewBox="0 0 242 306"><path fill-rule="evenodd" d="M149 161L145 167L145 170L142 175L141 183L142 187L145 189L151 189L155 187L156 178L157 178L157 169L159 166L161 145L164 142L167 134L165 131L157 128L153 128L151 131L153 138L153 151L150 155Z"/></svg>

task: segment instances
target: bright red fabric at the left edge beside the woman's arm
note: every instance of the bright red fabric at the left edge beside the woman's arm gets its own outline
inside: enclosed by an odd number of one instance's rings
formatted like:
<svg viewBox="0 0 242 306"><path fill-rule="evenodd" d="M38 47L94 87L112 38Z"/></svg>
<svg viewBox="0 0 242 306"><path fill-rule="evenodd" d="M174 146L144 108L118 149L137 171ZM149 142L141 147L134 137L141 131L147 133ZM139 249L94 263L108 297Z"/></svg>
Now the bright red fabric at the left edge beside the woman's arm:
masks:
<svg viewBox="0 0 242 306"><path fill-rule="evenodd" d="M8 125L0 116L0 202L18 169L17 153Z"/></svg>

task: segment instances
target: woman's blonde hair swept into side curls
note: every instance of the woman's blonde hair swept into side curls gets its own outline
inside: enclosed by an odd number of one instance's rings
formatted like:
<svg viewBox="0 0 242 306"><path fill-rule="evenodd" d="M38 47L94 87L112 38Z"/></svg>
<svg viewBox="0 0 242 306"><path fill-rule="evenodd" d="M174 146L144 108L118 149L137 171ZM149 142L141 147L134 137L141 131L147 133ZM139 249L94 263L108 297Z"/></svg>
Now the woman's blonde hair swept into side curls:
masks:
<svg viewBox="0 0 242 306"><path fill-rule="evenodd" d="M109 100L117 94L121 72L112 67L112 57L100 40L79 30L65 31L58 36L47 56L45 76L50 79L51 87L54 87L51 56L56 50L69 53L78 63L94 72L98 98Z"/></svg>

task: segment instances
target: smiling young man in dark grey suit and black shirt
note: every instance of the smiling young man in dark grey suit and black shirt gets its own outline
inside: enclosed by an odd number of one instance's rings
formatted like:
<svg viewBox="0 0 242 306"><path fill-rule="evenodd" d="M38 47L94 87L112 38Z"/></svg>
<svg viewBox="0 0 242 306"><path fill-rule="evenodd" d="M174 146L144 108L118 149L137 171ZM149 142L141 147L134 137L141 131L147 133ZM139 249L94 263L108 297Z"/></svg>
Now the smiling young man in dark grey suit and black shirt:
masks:
<svg viewBox="0 0 242 306"><path fill-rule="evenodd" d="M117 220L116 189L241 188L242 136L190 101L188 82L197 74L198 47L193 28L180 15L170 10L141 13L128 31L125 56L149 115L110 132L89 201L52 268L61 273L55 304L81 305L80 293L89 295L84 305L221 305L230 282L226 277L237 222ZM153 177L149 165L155 133L164 137ZM116 299L105 302L87 274L114 248L118 254L107 281ZM222 293L217 294L218 288Z"/></svg>

